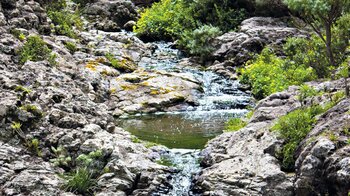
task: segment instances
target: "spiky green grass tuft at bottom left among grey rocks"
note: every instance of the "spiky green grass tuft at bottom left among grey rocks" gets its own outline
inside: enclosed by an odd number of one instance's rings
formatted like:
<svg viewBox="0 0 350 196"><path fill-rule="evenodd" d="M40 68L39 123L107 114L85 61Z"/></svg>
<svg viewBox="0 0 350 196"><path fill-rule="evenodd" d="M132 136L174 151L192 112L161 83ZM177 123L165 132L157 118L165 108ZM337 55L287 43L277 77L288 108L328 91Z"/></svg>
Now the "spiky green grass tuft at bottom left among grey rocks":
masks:
<svg viewBox="0 0 350 196"><path fill-rule="evenodd" d="M65 176L65 190L83 195L91 194L97 184L92 175L93 174L86 167L76 169L75 172Z"/></svg>

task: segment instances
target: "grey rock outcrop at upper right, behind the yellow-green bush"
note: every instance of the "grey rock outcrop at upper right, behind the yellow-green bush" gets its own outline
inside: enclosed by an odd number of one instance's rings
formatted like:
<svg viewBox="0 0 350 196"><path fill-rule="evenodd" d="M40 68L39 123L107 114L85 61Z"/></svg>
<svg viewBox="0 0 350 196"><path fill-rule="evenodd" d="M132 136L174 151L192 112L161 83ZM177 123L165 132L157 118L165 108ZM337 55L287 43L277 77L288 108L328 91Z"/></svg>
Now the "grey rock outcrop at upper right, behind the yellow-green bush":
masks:
<svg viewBox="0 0 350 196"><path fill-rule="evenodd" d="M259 54L266 45L278 49L288 37L306 35L306 32L288 26L288 20L270 17L244 20L237 32L228 32L216 39L214 45L217 49L212 58L224 66L241 66L254 54Z"/></svg>

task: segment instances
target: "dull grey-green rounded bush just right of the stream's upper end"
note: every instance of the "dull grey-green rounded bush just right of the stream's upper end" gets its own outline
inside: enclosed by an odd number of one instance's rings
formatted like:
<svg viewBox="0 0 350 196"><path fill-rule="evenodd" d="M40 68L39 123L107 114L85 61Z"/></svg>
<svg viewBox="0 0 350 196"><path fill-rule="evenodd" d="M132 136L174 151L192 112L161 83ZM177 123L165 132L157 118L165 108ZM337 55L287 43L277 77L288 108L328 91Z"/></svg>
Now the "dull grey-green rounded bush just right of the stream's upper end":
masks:
<svg viewBox="0 0 350 196"><path fill-rule="evenodd" d="M181 35L179 45L189 51L190 54L198 55L204 59L215 50L212 42L220 34L221 31L218 27L204 25L194 31L184 31Z"/></svg>

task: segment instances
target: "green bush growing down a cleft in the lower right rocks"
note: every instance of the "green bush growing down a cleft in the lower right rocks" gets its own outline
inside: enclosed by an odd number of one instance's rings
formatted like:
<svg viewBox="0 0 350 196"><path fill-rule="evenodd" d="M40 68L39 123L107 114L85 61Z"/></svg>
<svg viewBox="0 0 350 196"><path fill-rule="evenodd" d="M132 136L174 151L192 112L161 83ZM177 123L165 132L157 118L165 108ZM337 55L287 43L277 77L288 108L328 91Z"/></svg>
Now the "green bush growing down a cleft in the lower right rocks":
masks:
<svg viewBox="0 0 350 196"><path fill-rule="evenodd" d="M294 152L299 143L313 128L316 122L315 116L324 112L321 106L301 108L288 113L278 119L272 127L284 140L285 144L280 152L282 168L288 171L294 169Z"/></svg>

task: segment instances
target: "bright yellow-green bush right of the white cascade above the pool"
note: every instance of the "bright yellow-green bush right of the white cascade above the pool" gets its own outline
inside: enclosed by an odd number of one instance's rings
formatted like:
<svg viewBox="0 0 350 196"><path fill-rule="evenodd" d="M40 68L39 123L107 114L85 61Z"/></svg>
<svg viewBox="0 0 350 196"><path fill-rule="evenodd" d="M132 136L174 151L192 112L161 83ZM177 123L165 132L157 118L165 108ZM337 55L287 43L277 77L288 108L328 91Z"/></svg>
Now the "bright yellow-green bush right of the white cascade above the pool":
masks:
<svg viewBox="0 0 350 196"><path fill-rule="evenodd" d="M312 68L289 63L277 57L268 48L241 70L241 81L252 87L254 97L262 99L285 90L290 85L300 85L315 79Z"/></svg>

